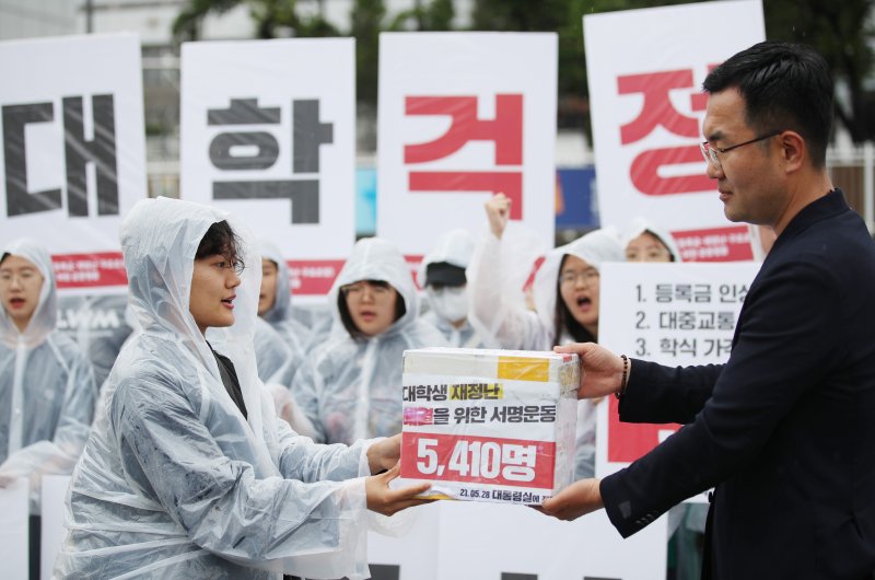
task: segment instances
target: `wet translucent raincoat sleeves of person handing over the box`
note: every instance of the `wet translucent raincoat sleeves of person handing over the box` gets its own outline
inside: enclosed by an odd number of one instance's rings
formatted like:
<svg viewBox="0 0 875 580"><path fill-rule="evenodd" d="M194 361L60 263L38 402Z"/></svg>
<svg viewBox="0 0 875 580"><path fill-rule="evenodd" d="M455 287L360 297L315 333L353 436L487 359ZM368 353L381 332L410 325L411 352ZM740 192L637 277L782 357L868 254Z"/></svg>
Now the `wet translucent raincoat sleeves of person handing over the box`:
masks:
<svg viewBox="0 0 875 580"><path fill-rule="evenodd" d="M121 383L112 402L113 432L126 478L160 502L192 543L238 564L281 571L283 558L342 550L364 533L364 479L316 482L358 475L361 448L314 455L307 442L287 444L282 473L311 483L258 478L253 465L230 459L214 439L235 433L211 433L182 386L172 383L155 375ZM290 569L300 573L301 567Z"/></svg>

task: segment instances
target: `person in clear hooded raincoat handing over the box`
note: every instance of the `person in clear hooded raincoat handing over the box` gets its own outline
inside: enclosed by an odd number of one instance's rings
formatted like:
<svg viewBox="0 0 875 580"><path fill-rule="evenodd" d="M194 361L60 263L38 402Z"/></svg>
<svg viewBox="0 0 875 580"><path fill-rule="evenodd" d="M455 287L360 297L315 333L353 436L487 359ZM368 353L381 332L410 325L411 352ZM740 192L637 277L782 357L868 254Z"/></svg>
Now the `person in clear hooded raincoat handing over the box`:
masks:
<svg viewBox="0 0 875 580"><path fill-rule="evenodd" d="M422 491L387 488L399 437L316 445L275 418L252 343L260 268L238 274L259 258L231 216L141 200L121 246L142 330L73 472L55 577L366 578L365 510Z"/></svg>

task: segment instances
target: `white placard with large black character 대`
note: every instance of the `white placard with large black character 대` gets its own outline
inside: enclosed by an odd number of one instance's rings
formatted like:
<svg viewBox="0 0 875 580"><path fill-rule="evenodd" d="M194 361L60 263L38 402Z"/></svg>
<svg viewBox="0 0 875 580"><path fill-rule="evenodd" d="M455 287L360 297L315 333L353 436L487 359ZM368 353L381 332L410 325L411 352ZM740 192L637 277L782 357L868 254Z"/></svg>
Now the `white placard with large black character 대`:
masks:
<svg viewBox="0 0 875 580"><path fill-rule="evenodd" d="M139 39L0 43L0 243L45 245L62 290L126 285L118 227L147 197Z"/></svg>

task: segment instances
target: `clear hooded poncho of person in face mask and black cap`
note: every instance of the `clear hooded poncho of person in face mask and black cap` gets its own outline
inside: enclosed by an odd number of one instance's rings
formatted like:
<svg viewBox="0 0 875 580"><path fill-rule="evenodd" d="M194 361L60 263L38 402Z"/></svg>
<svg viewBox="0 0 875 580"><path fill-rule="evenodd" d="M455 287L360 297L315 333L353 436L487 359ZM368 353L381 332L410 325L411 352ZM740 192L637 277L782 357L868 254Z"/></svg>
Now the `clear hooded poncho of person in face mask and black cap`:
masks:
<svg viewBox="0 0 875 580"><path fill-rule="evenodd" d="M451 230L441 235L434 244L434 247L422 258L422 264L419 268L420 283L425 283L425 272L429 264L445 262L453 266L458 266L459 268L467 268L471 259L471 254L474 254L474 236L471 236L467 230ZM459 302L459 305L463 306L465 311L465 316L467 316L467 287L444 288L440 292L435 292L431 286L427 286L425 295L429 298L431 310L422 315L422 320L438 328L441 334L444 335L444 338L446 338L451 347L487 348L488 345L486 341L467 320L462 326L456 327L452 320L447 318L448 313L444 312L447 310L447 306ZM443 304L446 304L446 306ZM455 310L459 309L452 309L452 311ZM458 313L452 314L452 317L456 316L458 316Z"/></svg>

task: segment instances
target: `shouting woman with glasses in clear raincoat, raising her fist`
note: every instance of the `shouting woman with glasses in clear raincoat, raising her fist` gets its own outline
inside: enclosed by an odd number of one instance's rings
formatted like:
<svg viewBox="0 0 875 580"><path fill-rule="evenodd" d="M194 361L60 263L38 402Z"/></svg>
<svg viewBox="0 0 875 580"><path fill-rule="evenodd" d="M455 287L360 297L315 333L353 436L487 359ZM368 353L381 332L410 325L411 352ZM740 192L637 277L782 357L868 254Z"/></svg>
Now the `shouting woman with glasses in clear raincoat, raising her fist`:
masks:
<svg viewBox="0 0 875 580"><path fill-rule="evenodd" d="M498 282L509 264L508 242L502 239L511 201L502 194L487 201L491 233L478 245L468 268L470 318L475 327L501 348L551 350L569 343L598 341L599 268L605 262L622 262L616 234L606 229L590 232L550 251L535 275L535 312L515 304ZM578 403L575 479L595 472L595 405Z"/></svg>

